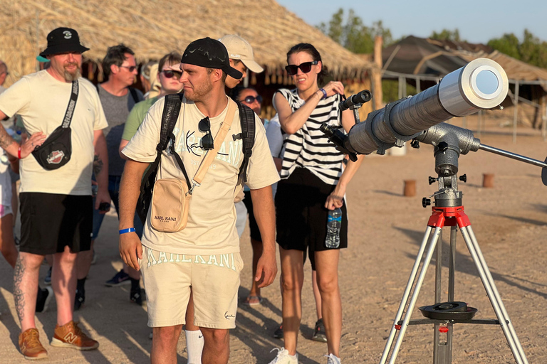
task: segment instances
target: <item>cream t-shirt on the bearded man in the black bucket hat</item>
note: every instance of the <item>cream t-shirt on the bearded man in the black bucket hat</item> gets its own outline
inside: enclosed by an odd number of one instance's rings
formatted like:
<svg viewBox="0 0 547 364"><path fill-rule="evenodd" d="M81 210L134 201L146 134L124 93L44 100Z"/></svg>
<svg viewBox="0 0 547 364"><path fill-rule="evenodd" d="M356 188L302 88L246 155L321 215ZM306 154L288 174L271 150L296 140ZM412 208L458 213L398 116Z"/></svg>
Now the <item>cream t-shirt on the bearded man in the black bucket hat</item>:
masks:
<svg viewBox="0 0 547 364"><path fill-rule="evenodd" d="M42 168L34 156L21 159L21 192L90 195L93 168L93 132L108 126L97 90L91 82L78 79L78 100L71 122L72 156L65 166L53 171ZM0 110L11 116L21 115L28 134L48 136L61 126L71 82L61 82L46 70L26 75L0 95Z"/></svg>

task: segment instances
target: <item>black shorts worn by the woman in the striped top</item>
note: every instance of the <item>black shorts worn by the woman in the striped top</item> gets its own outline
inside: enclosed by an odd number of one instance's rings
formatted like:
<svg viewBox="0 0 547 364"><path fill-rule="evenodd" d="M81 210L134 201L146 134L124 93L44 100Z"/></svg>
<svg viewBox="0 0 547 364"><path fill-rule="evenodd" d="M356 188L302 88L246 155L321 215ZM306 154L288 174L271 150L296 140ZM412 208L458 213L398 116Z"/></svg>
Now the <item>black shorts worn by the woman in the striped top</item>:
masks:
<svg viewBox="0 0 547 364"><path fill-rule="evenodd" d="M312 267L314 253L330 250L325 247L328 210L325 201L335 186L329 185L307 168L296 168L281 180L276 193L277 243L285 250L309 250ZM348 212L342 208L340 248L348 247Z"/></svg>

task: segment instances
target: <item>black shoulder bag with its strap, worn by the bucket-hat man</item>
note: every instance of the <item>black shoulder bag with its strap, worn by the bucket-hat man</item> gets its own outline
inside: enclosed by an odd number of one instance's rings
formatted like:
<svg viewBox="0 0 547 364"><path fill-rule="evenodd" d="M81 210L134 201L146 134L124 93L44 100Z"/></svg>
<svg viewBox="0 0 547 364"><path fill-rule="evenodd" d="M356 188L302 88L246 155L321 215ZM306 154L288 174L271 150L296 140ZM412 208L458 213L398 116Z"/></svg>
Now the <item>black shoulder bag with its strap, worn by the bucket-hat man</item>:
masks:
<svg viewBox="0 0 547 364"><path fill-rule="evenodd" d="M78 80L72 82L71 100L68 102L63 124L53 130L53 133L43 142L36 146L32 155L44 169L53 171L68 163L72 155L72 130L71 122L78 100Z"/></svg>

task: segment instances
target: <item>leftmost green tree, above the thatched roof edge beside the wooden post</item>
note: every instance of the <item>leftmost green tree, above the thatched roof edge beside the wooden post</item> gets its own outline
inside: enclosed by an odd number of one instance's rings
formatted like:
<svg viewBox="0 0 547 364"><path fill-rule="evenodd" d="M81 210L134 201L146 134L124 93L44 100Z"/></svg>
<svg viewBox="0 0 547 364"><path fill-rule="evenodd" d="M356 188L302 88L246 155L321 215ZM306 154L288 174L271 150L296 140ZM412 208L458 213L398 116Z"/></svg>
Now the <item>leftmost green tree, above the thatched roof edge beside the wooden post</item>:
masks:
<svg viewBox="0 0 547 364"><path fill-rule="evenodd" d="M321 23L318 28L353 53L373 53L375 36L382 36L384 45L392 43L391 31L384 28L382 21L375 21L371 27L365 26L353 9L348 11L345 19L344 10L338 9L328 24Z"/></svg>

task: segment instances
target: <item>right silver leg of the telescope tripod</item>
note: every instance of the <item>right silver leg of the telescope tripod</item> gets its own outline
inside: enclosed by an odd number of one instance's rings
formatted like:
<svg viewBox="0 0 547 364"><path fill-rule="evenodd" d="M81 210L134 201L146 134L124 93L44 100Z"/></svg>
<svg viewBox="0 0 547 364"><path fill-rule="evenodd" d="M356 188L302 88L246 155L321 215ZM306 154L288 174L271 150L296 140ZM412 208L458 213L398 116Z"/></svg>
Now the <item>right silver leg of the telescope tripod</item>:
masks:
<svg viewBox="0 0 547 364"><path fill-rule="evenodd" d="M509 319L509 314L507 314L504 303L501 301L499 291L496 288L496 284L494 284L494 279L492 279L492 275L486 265L486 261L484 260L484 256L482 255L481 249L479 248L479 243L476 241L476 237L471 226L465 226L460 230L462 231L462 235L467 248L469 249L469 253L471 253L471 256L473 257L476 269L479 271L479 276L481 277L484 289L486 289L486 294L488 294L492 308L496 313L501 329L504 331L504 335L507 339L507 343L509 343L509 348L511 348L511 352L513 353L516 363L528 364L526 354L524 354L521 342L516 336L511 319Z"/></svg>

